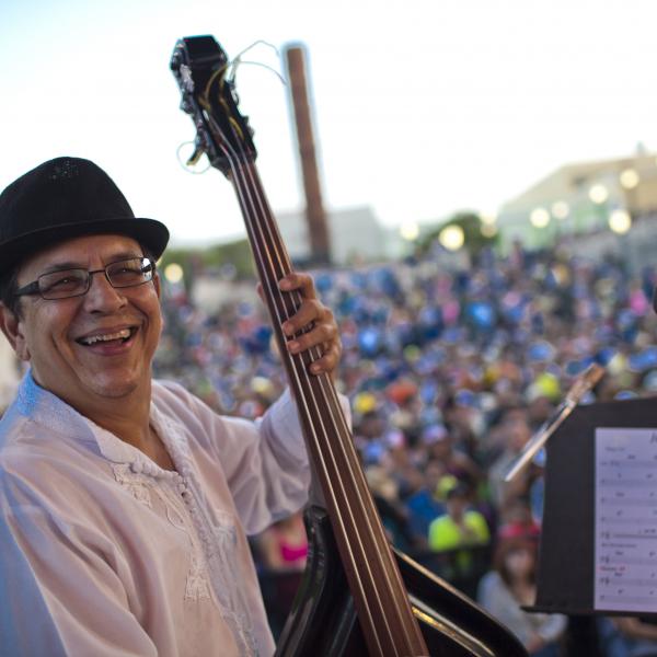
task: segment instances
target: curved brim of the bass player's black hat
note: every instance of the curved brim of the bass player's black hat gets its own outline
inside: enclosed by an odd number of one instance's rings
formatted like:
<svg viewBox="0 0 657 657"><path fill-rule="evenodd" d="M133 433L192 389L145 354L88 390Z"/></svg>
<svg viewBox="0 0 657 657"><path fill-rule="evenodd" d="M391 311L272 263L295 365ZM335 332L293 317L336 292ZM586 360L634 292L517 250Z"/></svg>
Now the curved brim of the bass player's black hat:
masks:
<svg viewBox="0 0 657 657"><path fill-rule="evenodd" d="M169 230L155 219L103 219L60 223L32 231L0 244L0 276L26 260L59 242L84 235L118 234L132 238L158 260L169 243Z"/></svg>

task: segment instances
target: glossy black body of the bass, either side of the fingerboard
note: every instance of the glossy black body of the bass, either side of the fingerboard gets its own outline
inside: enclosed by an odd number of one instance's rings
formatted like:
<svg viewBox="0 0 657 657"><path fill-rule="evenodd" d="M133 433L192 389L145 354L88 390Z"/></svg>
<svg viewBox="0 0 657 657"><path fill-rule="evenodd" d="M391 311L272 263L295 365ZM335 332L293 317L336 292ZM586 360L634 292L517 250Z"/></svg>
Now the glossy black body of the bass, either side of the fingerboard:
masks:
<svg viewBox="0 0 657 657"><path fill-rule="evenodd" d="M326 511L306 511L310 551L277 657L364 657L368 648ZM518 638L470 598L393 551L431 657L526 657Z"/></svg>

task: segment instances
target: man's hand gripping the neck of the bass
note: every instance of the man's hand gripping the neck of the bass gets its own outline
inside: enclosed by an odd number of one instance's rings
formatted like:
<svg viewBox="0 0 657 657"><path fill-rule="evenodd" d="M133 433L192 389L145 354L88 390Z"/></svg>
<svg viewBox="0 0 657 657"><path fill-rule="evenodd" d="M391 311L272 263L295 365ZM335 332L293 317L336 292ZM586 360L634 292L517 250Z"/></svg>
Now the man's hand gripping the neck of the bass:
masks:
<svg viewBox="0 0 657 657"><path fill-rule="evenodd" d="M290 354L300 354L318 347L322 354L310 366L313 374L323 372L334 376L342 356L342 342L333 312L316 296L312 276L309 274L288 274L278 283L284 292L297 290L302 298L297 312L283 323L283 332L292 337L287 343ZM303 333L301 333L303 330Z"/></svg>

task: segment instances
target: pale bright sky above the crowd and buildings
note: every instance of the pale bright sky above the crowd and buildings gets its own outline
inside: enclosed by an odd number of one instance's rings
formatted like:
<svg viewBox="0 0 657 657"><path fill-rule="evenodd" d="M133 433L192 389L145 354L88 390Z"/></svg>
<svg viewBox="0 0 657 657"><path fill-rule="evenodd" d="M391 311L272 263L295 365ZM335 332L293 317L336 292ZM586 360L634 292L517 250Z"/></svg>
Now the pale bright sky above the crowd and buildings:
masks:
<svg viewBox="0 0 657 657"><path fill-rule="evenodd" d="M242 237L231 184L183 170L194 138L169 60L211 34L308 51L327 209L387 227L495 212L570 162L657 149L654 0L2 0L0 187L58 155L94 160L172 244ZM276 51L244 59L278 70ZM287 89L238 72L275 212L303 208Z"/></svg>

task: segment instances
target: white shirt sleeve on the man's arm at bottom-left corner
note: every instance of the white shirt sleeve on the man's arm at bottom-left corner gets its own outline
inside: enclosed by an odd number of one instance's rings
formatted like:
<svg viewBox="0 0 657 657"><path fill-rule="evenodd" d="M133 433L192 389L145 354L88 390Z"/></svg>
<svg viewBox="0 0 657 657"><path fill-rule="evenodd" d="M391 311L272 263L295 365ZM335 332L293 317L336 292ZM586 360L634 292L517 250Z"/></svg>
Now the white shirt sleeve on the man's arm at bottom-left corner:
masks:
<svg viewBox="0 0 657 657"><path fill-rule="evenodd" d="M0 654L157 656L85 531L0 472Z"/></svg>

